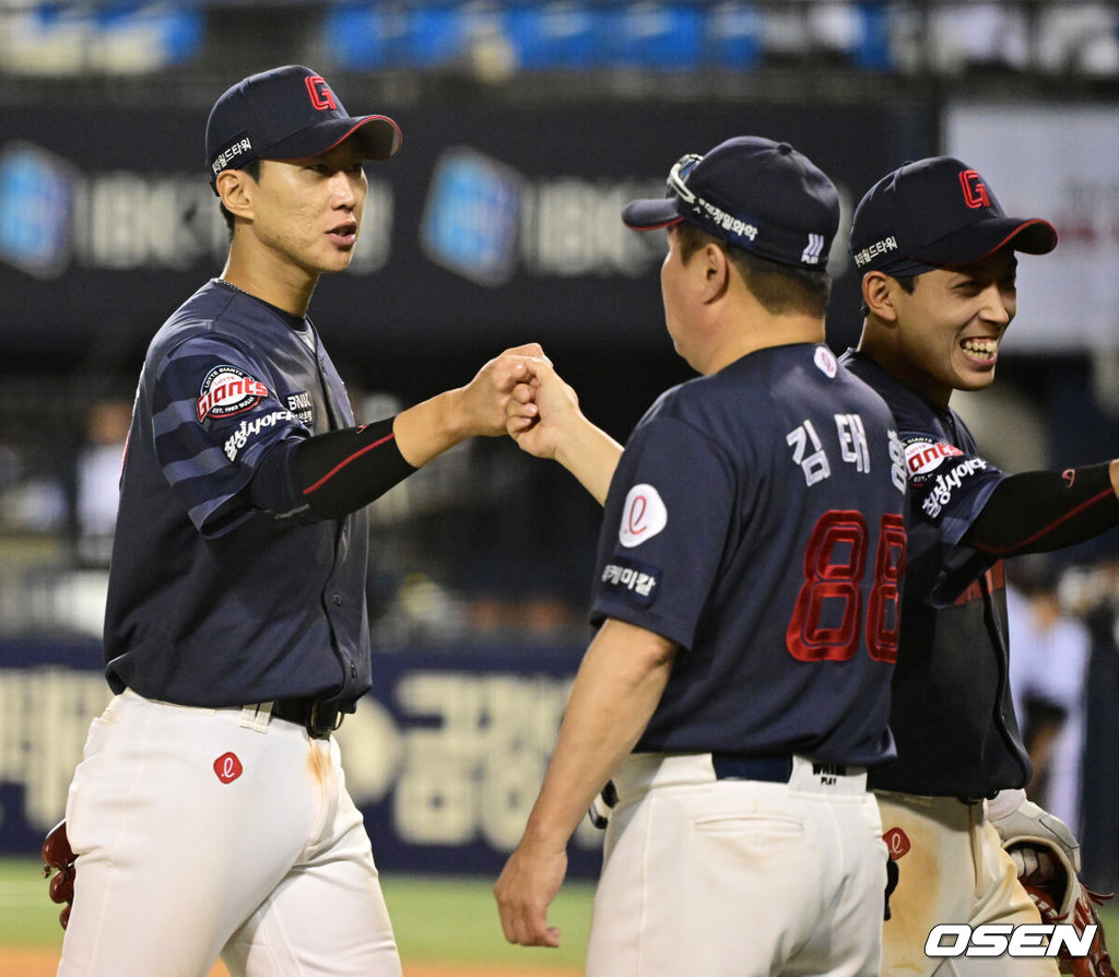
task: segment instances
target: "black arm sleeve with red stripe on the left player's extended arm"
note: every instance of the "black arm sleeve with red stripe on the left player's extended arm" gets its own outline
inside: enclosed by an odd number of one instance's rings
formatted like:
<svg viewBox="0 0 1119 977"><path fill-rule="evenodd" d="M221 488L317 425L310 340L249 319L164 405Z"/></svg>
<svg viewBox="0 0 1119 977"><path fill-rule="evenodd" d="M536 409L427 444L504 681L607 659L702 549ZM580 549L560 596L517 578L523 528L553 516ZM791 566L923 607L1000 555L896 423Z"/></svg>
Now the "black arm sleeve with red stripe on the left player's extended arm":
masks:
<svg viewBox="0 0 1119 977"><path fill-rule="evenodd" d="M301 522L357 511L416 471L396 447L394 420L280 442L261 459L250 499Z"/></svg>

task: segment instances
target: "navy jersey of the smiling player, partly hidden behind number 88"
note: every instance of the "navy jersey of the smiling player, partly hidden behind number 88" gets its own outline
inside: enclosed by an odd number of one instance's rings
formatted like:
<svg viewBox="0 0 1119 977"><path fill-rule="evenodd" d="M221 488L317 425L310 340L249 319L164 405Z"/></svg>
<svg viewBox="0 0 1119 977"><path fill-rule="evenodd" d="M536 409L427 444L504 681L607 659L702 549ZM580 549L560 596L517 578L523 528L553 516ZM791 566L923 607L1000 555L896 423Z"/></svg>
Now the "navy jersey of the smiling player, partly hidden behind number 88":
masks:
<svg viewBox="0 0 1119 977"><path fill-rule="evenodd" d="M905 447L909 570L890 725L897 759L874 786L938 797L1024 787L1032 768L1008 683L1003 564L960 541L1006 476L941 410L869 357L843 360L890 404Z"/></svg>

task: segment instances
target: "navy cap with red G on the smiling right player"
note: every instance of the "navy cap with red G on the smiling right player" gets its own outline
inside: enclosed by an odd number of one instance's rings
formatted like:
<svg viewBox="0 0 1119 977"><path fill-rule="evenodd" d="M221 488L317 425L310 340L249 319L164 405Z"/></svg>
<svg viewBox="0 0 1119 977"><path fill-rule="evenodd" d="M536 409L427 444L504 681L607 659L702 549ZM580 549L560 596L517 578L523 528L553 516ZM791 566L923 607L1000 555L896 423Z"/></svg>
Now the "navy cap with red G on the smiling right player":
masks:
<svg viewBox="0 0 1119 977"><path fill-rule="evenodd" d="M1005 245L1049 254L1056 231L1040 217L1007 217L986 180L948 156L884 176L859 201L850 227L859 273L895 278L979 261Z"/></svg>

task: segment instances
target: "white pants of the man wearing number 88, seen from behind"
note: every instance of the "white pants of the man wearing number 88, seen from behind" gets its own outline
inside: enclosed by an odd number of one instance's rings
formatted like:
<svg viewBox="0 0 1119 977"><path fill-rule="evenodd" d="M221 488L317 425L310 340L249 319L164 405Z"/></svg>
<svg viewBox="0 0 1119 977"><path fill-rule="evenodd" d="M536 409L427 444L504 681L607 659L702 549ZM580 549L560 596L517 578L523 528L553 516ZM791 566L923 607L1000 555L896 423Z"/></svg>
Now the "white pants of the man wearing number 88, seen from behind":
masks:
<svg viewBox="0 0 1119 977"><path fill-rule="evenodd" d="M877 977L886 848L864 773L717 780L711 754L614 778L587 977Z"/></svg>

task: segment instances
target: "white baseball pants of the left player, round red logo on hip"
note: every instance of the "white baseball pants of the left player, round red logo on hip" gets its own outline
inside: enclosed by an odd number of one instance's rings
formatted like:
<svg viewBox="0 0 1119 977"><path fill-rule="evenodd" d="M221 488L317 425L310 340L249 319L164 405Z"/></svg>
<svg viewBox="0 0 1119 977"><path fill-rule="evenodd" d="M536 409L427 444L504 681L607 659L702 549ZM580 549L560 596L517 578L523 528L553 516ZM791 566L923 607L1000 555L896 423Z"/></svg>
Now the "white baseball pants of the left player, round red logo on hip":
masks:
<svg viewBox="0 0 1119 977"><path fill-rule="evenodd" d="M59 977L401 977L338 744L253 707L116 696L70 785Z"/></svg>

